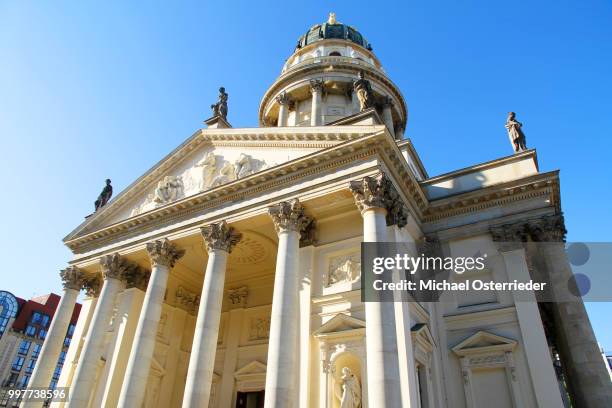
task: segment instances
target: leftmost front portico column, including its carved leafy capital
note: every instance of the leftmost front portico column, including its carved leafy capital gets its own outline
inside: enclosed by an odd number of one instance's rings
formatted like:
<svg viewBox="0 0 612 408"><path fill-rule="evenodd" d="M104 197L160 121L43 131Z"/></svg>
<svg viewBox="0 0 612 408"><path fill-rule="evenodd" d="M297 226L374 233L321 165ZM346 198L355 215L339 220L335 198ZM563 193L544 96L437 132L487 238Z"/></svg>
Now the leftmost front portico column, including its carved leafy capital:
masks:
<svg viewBox="0 0 612 408"><path fill-rule="evenodd" d="M64 338L70 325L74 305L85 282L85 274L75 266L64 269L60 272L60 276L64 285L64 295L53 315L53 320L51 320L49 333L40 350L40 355L34 367L28 388L49 387L53 377L53 370L55 370L57 360L64 345ZM21 406L42 406L42 402L23 402Z"/></svg>

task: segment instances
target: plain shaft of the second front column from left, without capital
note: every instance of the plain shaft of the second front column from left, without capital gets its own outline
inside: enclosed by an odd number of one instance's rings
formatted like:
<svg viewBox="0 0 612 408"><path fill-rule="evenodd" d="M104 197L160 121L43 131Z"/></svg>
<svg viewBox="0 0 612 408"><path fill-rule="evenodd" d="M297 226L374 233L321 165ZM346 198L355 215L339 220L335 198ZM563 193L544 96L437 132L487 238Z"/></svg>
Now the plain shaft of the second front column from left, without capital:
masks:
<svg viewBox="0 0 612 408"><path fill-rule="evenodd" d="M69 401L66 404L70 408L86 407L89 403L104 346L104 334L113 314L117 293L123 288L125 288L125 283L119 279L107 278L104 280L70 387Z"/></svg>

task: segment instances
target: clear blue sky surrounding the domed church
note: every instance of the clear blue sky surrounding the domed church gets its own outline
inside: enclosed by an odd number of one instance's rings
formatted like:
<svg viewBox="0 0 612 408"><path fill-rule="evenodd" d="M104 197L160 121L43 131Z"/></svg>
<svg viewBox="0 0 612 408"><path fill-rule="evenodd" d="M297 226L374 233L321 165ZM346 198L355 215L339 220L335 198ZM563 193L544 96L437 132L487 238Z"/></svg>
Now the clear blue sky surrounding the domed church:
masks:
<svg viewBox="0 0 612 408"><path fill-rule="evenodd" d="M330 11L402 90L430 175L510 154L514 110L541 170L561 169L568 240L612 241L609 1L174 3L0 1L0 288L59 292L61 238L104 179L118 193L189 137L220 85L230 122L257 126L298 37ZM587 307L612 351L612 304Z"/></svg>

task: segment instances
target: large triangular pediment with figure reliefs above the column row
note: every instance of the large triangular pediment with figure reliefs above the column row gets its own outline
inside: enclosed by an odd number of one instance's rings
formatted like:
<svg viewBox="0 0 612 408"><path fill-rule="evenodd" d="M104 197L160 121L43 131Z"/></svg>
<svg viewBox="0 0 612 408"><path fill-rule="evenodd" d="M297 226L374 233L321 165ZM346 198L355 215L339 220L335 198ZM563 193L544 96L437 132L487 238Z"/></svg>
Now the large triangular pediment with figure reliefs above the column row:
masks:
<svg viewBox="0 0 612 408"><path fill-rule="evenodd" d="M64 241L377 131L380 126L366 125L199 130Z"/></svg>

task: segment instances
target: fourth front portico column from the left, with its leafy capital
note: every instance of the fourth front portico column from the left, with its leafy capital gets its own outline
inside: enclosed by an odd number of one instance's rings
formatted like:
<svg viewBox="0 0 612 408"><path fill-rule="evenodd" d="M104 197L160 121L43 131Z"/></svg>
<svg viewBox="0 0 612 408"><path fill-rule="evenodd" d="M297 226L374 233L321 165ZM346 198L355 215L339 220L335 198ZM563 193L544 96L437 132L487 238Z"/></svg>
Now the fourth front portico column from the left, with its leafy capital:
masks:
<svg viewBox="0 0 612 408"><path fill-rule="evenodd" d="M227 256L242 234L225 221L202 228L208 252L206 275L191 346L183 408L208 407L213 379Z"/></svg>

